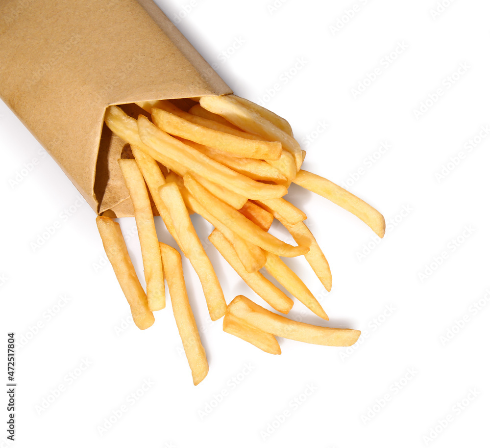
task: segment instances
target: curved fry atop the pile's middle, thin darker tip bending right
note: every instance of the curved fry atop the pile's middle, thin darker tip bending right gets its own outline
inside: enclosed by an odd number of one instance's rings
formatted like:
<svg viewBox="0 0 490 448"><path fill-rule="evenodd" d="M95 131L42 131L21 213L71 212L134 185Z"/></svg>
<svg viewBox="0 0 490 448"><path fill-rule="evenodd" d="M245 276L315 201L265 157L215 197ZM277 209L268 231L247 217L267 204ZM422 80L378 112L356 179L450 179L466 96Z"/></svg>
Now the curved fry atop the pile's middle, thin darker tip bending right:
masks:
<svg viewBox="0 0 490 448"><path fill-rule="evenodd" d="M184 184L207 211L226 227L232 228L236 234L245 240L251 241L257 246L283 257L296 257L308 252L307 247L291 246L273 235L264 232L259 226L245 218L242 213L214 197L191 176L186 175L184 177Z"/></svg>

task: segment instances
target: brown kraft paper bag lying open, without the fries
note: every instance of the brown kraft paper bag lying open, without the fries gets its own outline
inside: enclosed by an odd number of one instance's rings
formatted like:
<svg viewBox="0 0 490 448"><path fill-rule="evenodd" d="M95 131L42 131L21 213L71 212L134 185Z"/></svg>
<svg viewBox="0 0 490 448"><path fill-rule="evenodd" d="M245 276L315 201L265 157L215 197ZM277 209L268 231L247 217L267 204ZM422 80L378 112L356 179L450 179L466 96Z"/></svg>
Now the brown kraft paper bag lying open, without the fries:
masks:
<svg viewBox="0 0 490 448"><path fill-rule="evenodd" d="M0 2L0 97L99 214L133 215L108 105L228 93L151 0Z"/></svg>

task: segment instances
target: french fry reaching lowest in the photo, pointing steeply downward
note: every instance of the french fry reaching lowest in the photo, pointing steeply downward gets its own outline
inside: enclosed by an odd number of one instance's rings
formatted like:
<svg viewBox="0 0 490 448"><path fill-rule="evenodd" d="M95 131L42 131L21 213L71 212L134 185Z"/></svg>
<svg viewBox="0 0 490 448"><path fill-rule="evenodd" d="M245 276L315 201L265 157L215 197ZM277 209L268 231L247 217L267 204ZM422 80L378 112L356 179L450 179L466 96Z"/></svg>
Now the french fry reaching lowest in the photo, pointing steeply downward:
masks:
<svg viewBox="0 0 490 448"><path fill-rule="evenodd" d="M175 323L184 346L187 362L192 372L194 385L199 384L208 374L206 352L201 343L196 320L189 304L185 287L184 272L180 254L167 244L160 243L162 262L167 273L170 299Z"/></svg>

